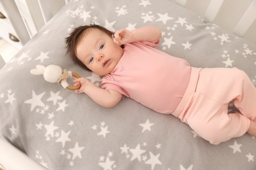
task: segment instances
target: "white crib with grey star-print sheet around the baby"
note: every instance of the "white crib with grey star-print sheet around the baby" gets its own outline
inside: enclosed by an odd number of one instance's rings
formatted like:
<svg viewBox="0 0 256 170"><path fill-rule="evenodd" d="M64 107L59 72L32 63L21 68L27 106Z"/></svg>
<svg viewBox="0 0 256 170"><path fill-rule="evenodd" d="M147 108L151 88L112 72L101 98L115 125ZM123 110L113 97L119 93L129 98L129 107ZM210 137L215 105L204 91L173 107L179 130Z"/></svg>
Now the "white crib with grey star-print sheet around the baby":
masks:
<svg viewBox="0 0 256 170"><path fill-rule="evenodd" d="M255 169L248 134L209 144L127 97L106 109L30 73L60 65L99 85L66 55L70 31L91 22L111 31L156 25L160 50L193 67L238 67L256 86L255 0L72 0L53 17L41 7L46 24L0 70L0 169Z"/></svg>

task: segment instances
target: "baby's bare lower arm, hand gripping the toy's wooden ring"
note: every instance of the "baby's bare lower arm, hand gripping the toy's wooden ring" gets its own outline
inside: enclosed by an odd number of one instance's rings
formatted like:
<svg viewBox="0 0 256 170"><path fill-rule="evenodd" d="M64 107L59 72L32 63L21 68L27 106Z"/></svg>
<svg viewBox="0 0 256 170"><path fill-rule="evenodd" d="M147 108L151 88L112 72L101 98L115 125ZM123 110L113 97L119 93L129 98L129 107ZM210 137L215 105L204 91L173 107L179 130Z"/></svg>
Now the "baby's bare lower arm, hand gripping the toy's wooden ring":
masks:
<svg viewBox="0 0 256 170"><path fill-rule="evenodd" d="M93 101L103 107L114 107L119 103L122 97L121 93L116 90L104 90L83 77L76 78L74 83L81 84L81 88L75 90L75 93L86 93Z"/></svg>

